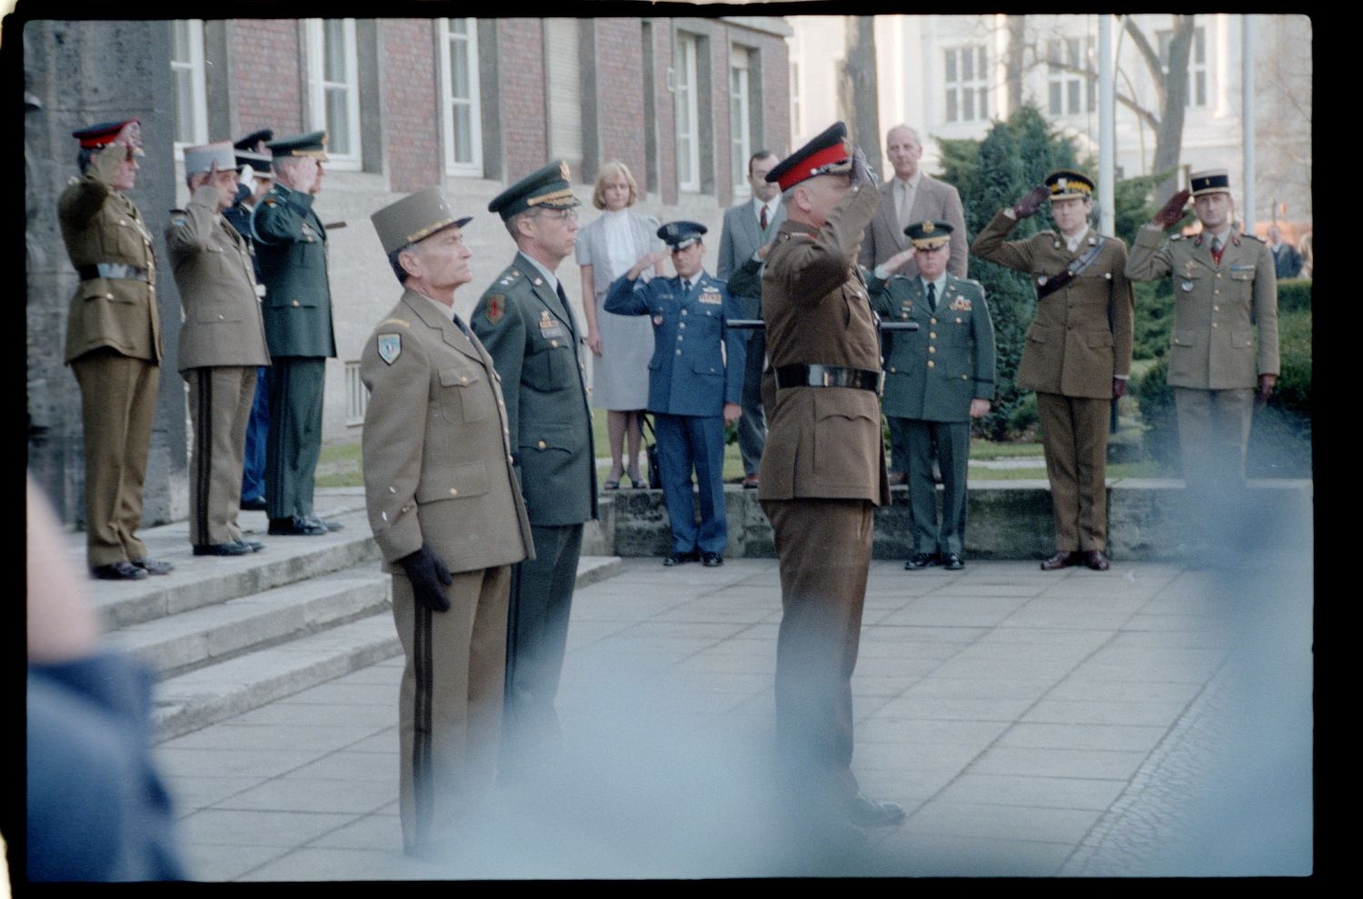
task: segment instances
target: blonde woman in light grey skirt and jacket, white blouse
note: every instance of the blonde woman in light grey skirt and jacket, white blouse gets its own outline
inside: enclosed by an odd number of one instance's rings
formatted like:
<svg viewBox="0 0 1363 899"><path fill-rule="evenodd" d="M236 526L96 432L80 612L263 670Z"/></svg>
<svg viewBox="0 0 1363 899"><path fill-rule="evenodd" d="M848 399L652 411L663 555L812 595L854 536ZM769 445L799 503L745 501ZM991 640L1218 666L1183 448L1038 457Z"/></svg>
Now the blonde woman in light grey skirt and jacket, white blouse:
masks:
<svg viewBox="0 0 1363 899"><path fill-rule="evenodd" d="M582 266L582 297L587 320L587 347L597 358L592 372L592 405L607 410L611 439L611 474L607 490L620 486L628 469L631 486L647 486L639 474L639 417L649 402L649 358L653 356L653 324L646 316L607 312L605 293L643 253L661 249L658 221L630 210L639 199L634 176L623 162L601 166L592 204L602 214L578 234L577 259ZM643 278L654 275L652 268ZM624 455L628 441L628 455ZM627 462L628 464L624 464Z"/></svg>

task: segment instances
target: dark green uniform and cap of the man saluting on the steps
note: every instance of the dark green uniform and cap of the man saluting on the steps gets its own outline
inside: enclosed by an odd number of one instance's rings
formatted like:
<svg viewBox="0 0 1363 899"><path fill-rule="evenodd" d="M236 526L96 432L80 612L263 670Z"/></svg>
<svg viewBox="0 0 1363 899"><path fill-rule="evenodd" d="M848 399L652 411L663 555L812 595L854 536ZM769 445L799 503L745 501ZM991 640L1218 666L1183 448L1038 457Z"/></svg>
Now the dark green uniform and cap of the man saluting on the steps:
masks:
<svg viewBox="0 0 1363 899"><path fill-rule="evenodd" d="M324 132L271 142L281 155L318 155ZM270 372L270 433L266 441L266 500L277 523L320 523L312 515L312 488L322 455L322 400L326 360L335 357L327 234L312 195L275 184L251 218L264 281L264 332Z"/></svg>

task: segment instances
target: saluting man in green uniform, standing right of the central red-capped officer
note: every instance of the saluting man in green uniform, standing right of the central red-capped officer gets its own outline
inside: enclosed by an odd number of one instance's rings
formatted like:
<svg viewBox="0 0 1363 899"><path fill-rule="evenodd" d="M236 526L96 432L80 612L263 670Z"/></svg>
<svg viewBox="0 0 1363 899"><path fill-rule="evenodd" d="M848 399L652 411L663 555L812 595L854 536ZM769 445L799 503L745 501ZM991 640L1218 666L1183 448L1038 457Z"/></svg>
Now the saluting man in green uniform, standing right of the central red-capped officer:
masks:
<svg viewBox="0 0 1363 899"><path fill-rule="evenodd" d="M867 281L871 306L880 316L917 321L919 330L895 338L885 361L883 410L905 459L913 550L908 571L940 564L964 568L965 473L970 456L970 420L994 400L994 321L977 281L947 272L950 222L915 222L904 229L912 247L876 266ZM894 272L909 257L916 274ZM942 524L936 520L932 455L942 469Z"/></svg>

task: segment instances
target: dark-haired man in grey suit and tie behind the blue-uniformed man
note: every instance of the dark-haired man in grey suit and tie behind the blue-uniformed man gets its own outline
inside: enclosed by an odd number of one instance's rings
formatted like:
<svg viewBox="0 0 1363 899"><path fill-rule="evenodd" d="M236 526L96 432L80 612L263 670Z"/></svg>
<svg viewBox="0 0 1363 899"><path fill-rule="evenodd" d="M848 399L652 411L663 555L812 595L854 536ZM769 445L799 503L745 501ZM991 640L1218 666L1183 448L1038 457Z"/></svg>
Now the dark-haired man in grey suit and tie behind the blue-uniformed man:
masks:
<svg viewBox="0 0 1363 899"><path fill-rule="evenodd" d="M732 206L724 212L724 233L720 234L720 260L716 274L729 281L736 271L750 267L752 272L766 257L767 245L785 221L781 191L766 180L776 168L777 158L770 150L758 150L748 159L748 185L752 199ZM739 298L746 319L762 317L762 282L752 279L752 289L729 293ZM766 334L752 331L743 336L747 349L743 373L743 415L739 418L739 452L743 455L743 486L758 485L758 462L766 443L766 418L762 414L762 360L766 357Z"/></svg>

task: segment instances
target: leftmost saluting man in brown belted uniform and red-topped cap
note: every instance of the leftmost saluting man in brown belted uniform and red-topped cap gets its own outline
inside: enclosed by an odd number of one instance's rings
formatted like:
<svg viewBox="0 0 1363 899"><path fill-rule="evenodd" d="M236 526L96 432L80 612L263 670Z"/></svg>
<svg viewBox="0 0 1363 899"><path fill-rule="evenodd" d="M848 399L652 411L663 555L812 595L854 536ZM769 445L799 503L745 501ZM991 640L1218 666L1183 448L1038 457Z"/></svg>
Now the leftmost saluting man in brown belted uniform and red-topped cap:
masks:
<svg viewBox="0 0 1363 899"><path fill-rule="evenodd" d="M72 132L82 177L61 192L61 240L80 286L67 315L65 361L80 384L86 462L86 560L109 580L165 575L138 539L161 364L157 260L138 181L142 125L106 121Z"/></svg>

